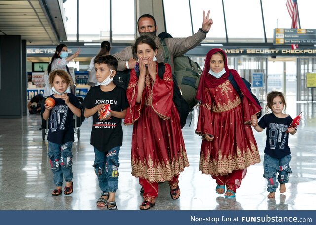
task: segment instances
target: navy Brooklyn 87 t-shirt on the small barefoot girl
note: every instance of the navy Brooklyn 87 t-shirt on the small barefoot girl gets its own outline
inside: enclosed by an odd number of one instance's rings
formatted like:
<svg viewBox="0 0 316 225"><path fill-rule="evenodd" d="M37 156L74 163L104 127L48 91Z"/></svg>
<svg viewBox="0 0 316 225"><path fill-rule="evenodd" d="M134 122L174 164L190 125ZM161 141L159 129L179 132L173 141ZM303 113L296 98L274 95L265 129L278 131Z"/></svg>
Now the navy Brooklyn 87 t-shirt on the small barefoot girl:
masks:
<svg viewBox="0 0 316 225"><path fill-rule="evenodd" d="M289 133L286 133L286 130L292 121L290 115L285 118L278 118L273 113L266 114L261 118L258 125L262 129L267 128L266 154L274 158L282 158L291 154L288 146Z"/></svg>

